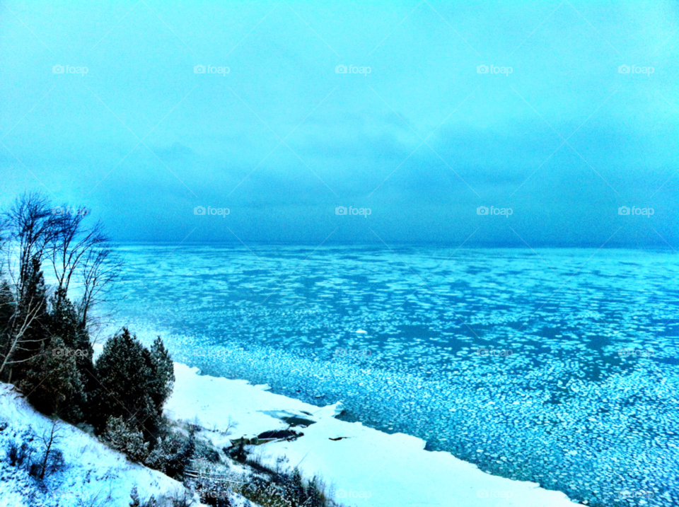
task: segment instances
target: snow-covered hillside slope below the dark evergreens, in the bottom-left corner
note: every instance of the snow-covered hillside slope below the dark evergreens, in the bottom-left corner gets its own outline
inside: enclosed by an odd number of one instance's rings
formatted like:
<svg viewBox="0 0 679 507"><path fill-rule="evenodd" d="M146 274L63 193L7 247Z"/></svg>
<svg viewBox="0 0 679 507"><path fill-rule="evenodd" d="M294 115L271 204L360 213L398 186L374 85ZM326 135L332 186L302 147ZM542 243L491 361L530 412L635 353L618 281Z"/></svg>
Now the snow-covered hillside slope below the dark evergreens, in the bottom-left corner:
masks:
<svg viewBox="0 0 679 507"><path fill-rule="evenodd" d="M0 383L0 428L4 428L0 431L1 506L117 507L129 505L129 493L135 485L142 500L151 495L167 499L183 490L179 482L127 461L124 455L65 423L55 444L64 454L64 470L46 477L44 487L40 487L26 470L9 465L7 450L10 441L25 441L26 431L35 433L33 445L42 450L40 436L49 432L51 426L50 419L36 412L13 386Z"/></svg>

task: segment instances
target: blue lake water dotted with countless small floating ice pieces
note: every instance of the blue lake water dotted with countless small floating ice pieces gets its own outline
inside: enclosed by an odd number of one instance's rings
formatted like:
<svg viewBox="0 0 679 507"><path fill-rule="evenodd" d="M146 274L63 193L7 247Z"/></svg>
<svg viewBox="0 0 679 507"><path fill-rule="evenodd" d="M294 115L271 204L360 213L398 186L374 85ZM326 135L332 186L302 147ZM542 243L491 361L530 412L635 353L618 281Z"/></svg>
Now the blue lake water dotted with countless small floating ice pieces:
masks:
<svg viewBox="0 0 679 507"><path fill-rule="evenodd" d="M594 506L679 505L668 251L128 245L116 321Z"/></svg>

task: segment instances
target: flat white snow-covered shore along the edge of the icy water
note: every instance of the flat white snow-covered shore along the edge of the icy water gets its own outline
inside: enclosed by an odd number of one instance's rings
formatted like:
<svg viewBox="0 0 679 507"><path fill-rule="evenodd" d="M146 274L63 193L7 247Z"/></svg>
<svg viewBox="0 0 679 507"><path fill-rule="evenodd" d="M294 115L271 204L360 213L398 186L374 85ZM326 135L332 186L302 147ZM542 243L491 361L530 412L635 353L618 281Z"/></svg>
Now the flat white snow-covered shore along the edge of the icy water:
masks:
<svg viewBox="0 0 679 507"><path fill-rule="evenodd" d="M298 465L305 477L322 477L345 506L374 507L562 507L574 506L565 494L479 470L450 453L424 450L425 442L403 433L388 434L361 423L335 419L341 403L317 407L268 392L245 380L200 375L197 368L175 363L175 388L166 404L170 419L197 421L214 429L214 443L286 429L291 416L315 421L297 427L295 441L252 446L262 462L277 459ZM233 428L233 424L236 427Z"/></svg>

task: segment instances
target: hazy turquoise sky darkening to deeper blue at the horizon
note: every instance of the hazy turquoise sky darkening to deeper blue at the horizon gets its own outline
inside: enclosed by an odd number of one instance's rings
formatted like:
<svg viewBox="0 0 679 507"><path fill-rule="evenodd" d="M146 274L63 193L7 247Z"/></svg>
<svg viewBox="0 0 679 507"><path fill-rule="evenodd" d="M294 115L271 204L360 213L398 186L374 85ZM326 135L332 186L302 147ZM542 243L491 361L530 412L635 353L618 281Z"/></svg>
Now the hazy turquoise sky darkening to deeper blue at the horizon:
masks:
<svg viewBox="0 0 679 507"><path fill-rule="evenodd" d="M678 30L662 0L4 1L0 206L121 242L679 250Z"/></svg>

